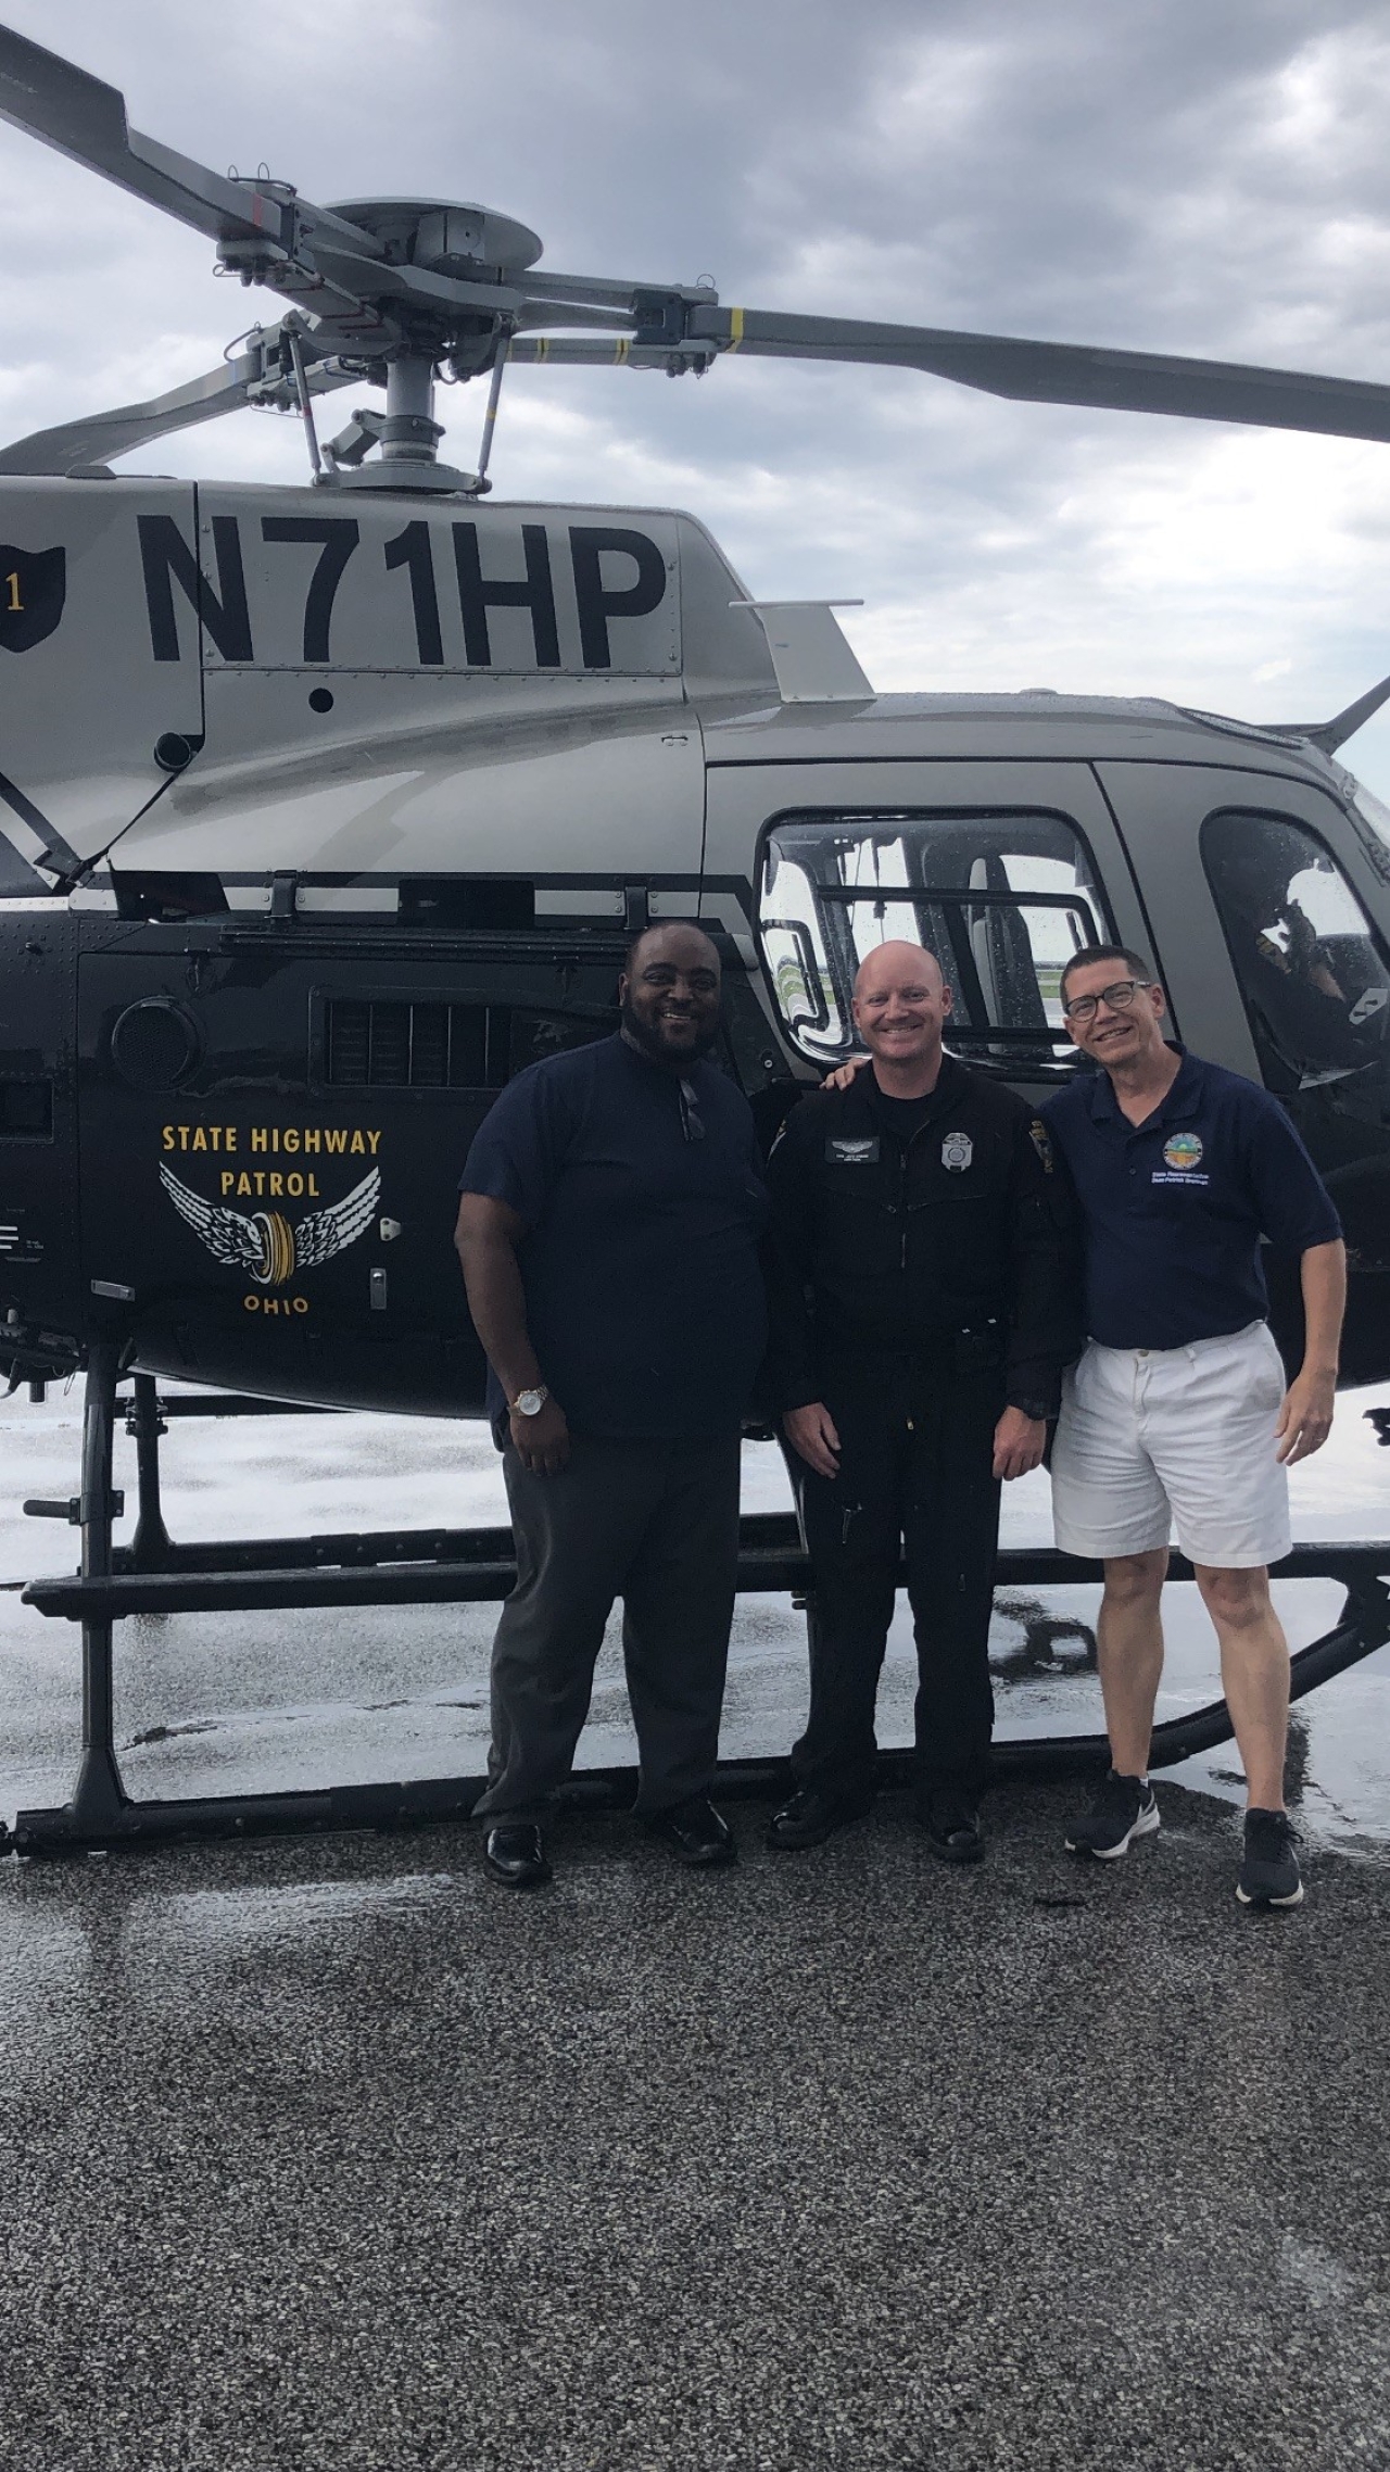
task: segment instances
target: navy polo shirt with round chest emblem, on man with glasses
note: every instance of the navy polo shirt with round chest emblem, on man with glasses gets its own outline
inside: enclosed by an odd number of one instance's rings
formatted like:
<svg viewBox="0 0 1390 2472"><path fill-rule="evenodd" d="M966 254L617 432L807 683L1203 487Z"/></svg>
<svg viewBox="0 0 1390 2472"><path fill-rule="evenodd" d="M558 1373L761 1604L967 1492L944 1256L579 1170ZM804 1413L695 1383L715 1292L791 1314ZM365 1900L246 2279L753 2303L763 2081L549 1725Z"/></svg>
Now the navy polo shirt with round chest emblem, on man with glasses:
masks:
<svg viewBox="0 0 1390 2472"><path fill-rule="evenodd" d="M1279 1100L1180 1056L1143 1125L1120 1115L1106 1073L1044 1107L1081 1199L1086 1330L1101 1347L1190 1347L1244 1330L1269 1313L1261 1236L1286 1253L1341 1236Z"/></svg>

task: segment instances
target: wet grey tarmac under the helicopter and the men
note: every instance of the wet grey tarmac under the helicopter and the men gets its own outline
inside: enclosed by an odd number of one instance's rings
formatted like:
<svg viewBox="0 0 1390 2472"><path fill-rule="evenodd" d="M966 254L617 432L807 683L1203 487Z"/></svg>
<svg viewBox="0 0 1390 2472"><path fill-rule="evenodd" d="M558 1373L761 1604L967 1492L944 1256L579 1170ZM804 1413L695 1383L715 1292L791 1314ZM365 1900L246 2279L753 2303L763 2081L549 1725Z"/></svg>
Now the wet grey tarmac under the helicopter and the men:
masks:
<svg viewBox="0 0 1390 2472"><path fill-rule="evenodd" d="M1345 1399L1301 1535L1390 1533ZM129 1449L129 1446L124 1446ZM77 1399L0 1426L72 1565ZM134 1471L126 1468L126 1476ZM121 1471L119 1478L121 1481ZM749 1503L782 1501L749 1451ZM176 1535L497 1515L467 1429L178 1426ZM1046 1535L1046 1481L1009 1496ZM1175 1592L1165 1713L1212 1696ZM1341 1594L1286 1589L1296 1644ZM1098 1713L1093 1592L999 1609L999 1730ZM487 1609L119 1632L131 1792L480 1765ZM883 1738L908 1718L905 1641ZM0 1814L72 1782L77 1632L0 1594ZM740 1607L725 1748L791 1738ZM0 2460L37 2472L1343 2472L1390 2462L1390 1654L1303 1703L1308 1903L1234 1896L1234 1753L1162 1834L1073 1790L935 1864L900 1797L690 1876L623 1819L517 1898L467 1829L0 1864ZM613 1664L594 1763L628 1758ZM1195 1790L1200 1787L1200 1790Z"/></svg>

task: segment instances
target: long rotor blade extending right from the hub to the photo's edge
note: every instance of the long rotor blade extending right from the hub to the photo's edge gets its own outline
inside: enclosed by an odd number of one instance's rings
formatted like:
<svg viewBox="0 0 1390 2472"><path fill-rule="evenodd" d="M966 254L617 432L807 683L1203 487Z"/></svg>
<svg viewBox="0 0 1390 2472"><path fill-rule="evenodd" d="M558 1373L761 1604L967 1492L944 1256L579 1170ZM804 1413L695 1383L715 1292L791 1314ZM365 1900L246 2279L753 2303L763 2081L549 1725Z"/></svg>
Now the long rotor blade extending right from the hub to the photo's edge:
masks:
<svg viewBox="0 0 1390 2472"><path fill-rule="evenodd" d="M1323 438L1390 440L1390 386L1318 378L1239 361L1185 361L1158 351L1031 344L945 326L871 326L861 319L782 316L767 309L693 309L685 334L720 351L791 361L920 368L1014 403L1076 403L1113 413L1244 420Z"/></svg>

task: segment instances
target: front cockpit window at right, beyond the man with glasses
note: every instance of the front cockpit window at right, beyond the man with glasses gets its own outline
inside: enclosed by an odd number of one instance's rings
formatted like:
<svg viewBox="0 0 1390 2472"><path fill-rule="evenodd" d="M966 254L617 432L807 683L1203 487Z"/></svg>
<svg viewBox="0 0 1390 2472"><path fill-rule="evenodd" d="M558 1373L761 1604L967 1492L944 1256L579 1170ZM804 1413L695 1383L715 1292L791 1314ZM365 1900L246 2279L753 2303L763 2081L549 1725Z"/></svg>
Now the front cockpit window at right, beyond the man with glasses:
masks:
<svg viewBox="0 0 1390 2472"><path fill-rule="evenodd" d="M1286 816L1227 808L1202 860L1271 1090L1311 1090L1390 1056L1390 969L1323 843Z"/></svg>

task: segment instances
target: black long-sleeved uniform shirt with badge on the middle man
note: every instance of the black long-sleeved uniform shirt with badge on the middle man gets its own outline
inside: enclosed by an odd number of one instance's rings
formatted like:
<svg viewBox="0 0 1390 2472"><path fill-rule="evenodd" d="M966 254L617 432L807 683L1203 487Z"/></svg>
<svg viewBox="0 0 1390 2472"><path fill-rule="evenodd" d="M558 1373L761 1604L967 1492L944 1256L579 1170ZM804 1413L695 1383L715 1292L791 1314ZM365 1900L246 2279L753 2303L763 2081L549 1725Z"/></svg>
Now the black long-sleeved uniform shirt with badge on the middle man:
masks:
<svg viewBox="0 0 1390 2472"><path fill-rule="evenodd" d="M1078 1355L1073 1196L1039 1117L942 1056L900 1130L873 1068L804 1098L772 1152L772 1372L782 1407L826 1377L940 1365L960 1332L994 1332L1007 1402L1054 1416ZM898 1122L895 1122L898 1120Z"/></svg>

